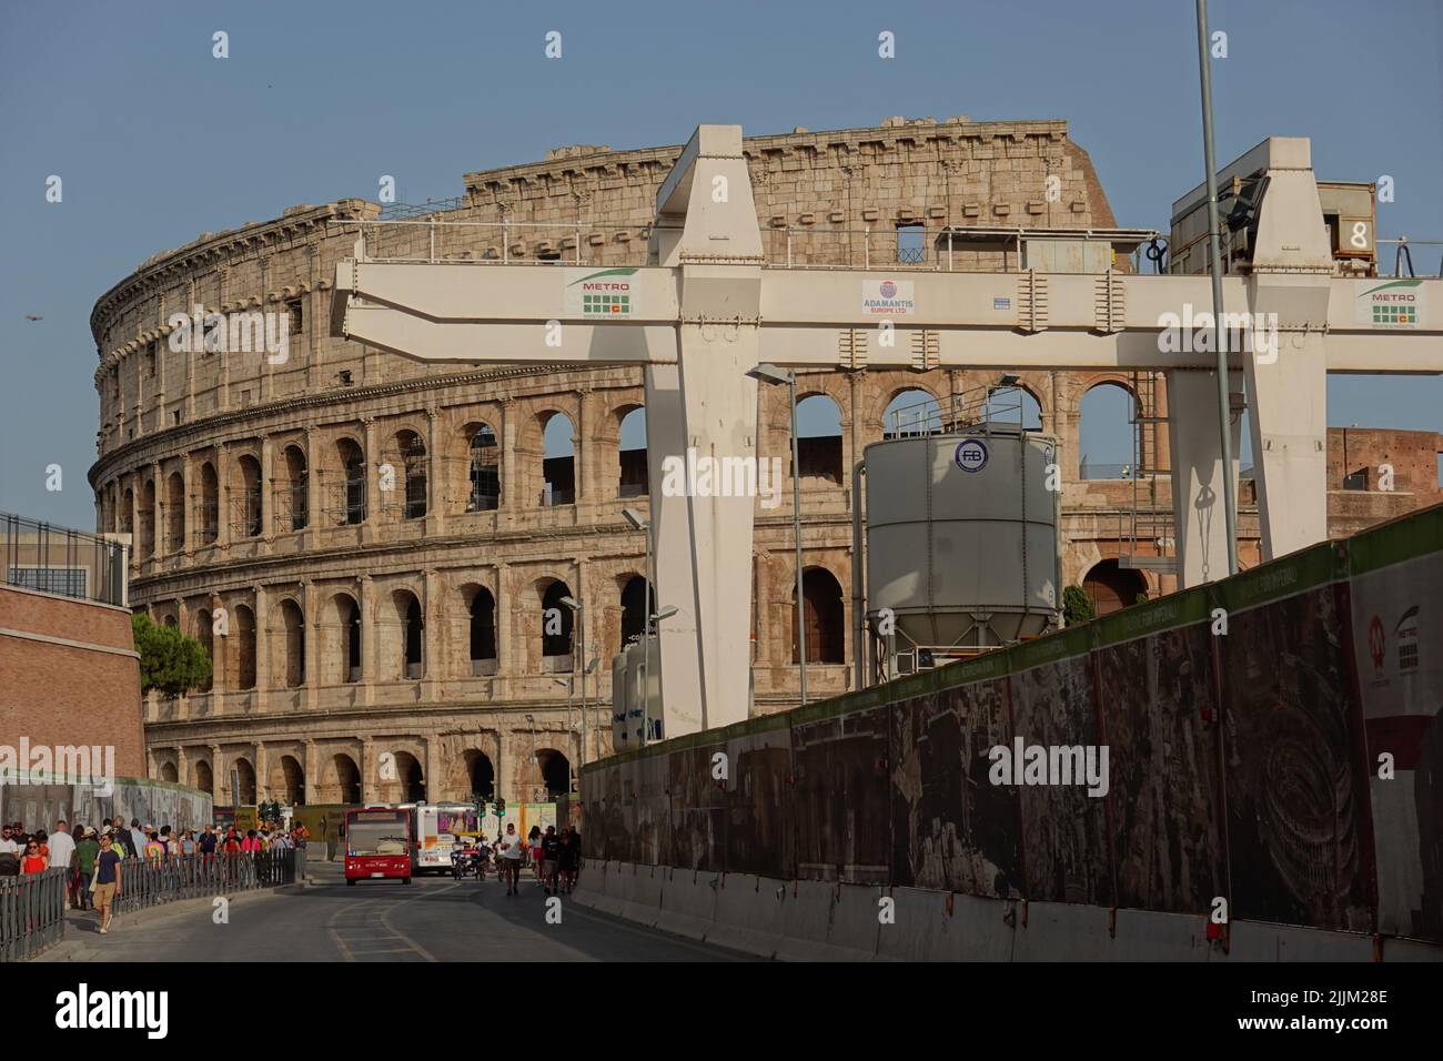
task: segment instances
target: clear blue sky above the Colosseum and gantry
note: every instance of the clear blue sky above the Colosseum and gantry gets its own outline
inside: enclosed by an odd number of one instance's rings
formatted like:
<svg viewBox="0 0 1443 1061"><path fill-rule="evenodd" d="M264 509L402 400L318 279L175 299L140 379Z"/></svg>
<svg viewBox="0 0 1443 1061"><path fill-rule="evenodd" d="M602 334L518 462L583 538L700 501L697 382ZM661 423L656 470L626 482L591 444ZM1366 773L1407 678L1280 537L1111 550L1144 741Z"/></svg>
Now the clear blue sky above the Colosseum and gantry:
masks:
<svg viewBox="0 0 1443 1061"><path fill-rule="evenodd" d="M1395 179L1380 235L1443 238L1439 9L1215 0L1229 45L1214 64L1219 163L1268 134L1310 136L1320 176ZM553 29L560 61L543 53ZM893 61L877 58L885 29ZM211 56L215 30L229 33L231 58ZM143 258L202 231L297 202L374 199L382 173L418 202L558 144L889 114L1065 118L1118 224L1166 231L1172 201L1202 178L1196 82L1189 0L9 4L0 508L92 525L91 307ZM45 202L52 173L59 205ZM1329 401L1333 424L1443 430L1436 377L1335 378ZM49 463L63 469L59 494L45 489Z"/></svg>

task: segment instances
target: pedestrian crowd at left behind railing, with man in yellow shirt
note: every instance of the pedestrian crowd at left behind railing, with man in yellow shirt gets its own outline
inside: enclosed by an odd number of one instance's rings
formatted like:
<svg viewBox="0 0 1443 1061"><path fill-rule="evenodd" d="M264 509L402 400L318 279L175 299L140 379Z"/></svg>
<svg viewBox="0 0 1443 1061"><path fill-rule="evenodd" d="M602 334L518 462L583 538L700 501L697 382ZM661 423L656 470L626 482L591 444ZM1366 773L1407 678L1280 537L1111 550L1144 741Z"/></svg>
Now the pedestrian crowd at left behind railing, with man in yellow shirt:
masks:
<svg viewBox="0 0 1443 1061"><path fill-rule="evenodd" d="M300 823L293 829L263 826L244 834L235 826L196 829L156 829L131 818L104 818L94 826L76 823L72 829L63 818L55 831L36 829L33 833L16 821L0 827L0 876L26 876L46 869L66 869L66 909L94 909L100 914L100 931L108 933L111 908L120 898L127 859L137 863L160 865L167 857L214 857L215 855L260 855L266 850L304 847L310 839Z"/></svg>

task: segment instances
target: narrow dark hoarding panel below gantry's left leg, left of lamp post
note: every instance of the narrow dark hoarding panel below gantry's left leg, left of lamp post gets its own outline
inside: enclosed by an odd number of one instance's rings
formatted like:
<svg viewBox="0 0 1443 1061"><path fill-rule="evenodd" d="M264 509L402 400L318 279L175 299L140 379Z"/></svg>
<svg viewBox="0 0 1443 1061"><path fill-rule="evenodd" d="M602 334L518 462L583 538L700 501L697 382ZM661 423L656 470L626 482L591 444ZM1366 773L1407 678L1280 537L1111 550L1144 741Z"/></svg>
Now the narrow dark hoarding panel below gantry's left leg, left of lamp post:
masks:
<svg viewBox="0 0 1443 1061"><path fill-rule="evenodd" d="M724 765L726 872L794 876L791 849L792 730L786 726L726 742L726 759L709 762L713 777Z"/></svg>

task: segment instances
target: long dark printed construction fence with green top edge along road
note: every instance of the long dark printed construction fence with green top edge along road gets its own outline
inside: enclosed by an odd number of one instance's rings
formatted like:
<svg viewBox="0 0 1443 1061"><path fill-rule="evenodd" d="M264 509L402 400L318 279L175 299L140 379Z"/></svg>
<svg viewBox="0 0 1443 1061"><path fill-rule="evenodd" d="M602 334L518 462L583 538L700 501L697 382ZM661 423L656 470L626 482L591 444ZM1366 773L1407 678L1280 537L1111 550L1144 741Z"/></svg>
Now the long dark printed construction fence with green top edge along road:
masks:
<svg viewBox="0 0 1443 1061"><path fill-rule="evenodd" d="M668 868L658 888L924 889L1199 935L1222 899L1228 922L1443 943L1440 704L1443 505L590 764L583 837L603 876Z"/></svg>

